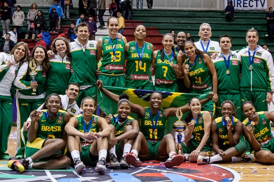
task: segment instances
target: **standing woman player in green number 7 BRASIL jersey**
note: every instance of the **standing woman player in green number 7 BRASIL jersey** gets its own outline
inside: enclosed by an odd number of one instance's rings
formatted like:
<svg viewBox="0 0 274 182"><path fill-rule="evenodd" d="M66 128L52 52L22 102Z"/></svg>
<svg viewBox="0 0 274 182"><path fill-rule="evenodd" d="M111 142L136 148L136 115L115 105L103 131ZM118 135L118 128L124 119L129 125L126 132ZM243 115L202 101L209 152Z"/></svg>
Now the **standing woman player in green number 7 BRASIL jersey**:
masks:
<svg viewBox="0 0 274 182"><path fill-rule="evenodd" d="M162 40L163 49L152 55L152 75L155 77L155 90L178 92L176 77L181 78L182 55L175 52L173 36L166 33Z"/></svg>

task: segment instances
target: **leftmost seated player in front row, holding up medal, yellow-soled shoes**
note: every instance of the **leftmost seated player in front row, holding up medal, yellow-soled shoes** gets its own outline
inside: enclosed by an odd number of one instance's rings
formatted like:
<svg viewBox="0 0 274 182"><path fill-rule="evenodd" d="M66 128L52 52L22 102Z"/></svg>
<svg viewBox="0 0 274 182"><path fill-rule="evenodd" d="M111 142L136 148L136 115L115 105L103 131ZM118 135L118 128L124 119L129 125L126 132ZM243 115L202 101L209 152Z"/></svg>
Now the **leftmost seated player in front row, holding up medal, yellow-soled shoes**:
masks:
<svg viewBox="0 0 274 182"><path fill-rule="evenodd" d="M27 158L10 160L8 167L20 173L27 168L61 169L70 165L67 156L57 154L64 152L66 147L66 132L64 127L69 120L69 114L61 109L61 98L51 94L46 99L41 111L30 113L31 123L26 144Z"/></svg>

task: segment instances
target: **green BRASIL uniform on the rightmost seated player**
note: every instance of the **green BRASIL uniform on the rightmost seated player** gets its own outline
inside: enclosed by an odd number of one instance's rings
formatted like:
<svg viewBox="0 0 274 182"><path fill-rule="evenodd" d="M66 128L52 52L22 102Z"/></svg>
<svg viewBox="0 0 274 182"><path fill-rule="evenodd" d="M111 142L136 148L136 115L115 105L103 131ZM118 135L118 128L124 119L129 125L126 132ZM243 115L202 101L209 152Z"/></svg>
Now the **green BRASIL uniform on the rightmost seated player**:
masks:
<svg viewBox="0 0 274 182"><path fill-rule="evenodd" d="M274 153L274 138L271 132L270 121L265 116L264 111L256 112L259 115L258 125L253 126L253 136L260 143L262 150ZM248 118L243 122L245 126L249 125Z"/></svg>

